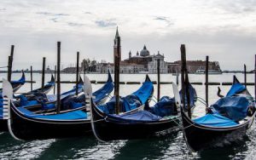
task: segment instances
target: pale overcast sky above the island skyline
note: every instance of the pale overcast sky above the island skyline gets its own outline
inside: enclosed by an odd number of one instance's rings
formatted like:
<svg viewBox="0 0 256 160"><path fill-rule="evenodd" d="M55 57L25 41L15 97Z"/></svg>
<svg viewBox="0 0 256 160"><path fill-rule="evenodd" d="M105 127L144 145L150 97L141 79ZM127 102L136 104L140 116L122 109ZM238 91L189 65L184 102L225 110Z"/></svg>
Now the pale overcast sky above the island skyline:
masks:
<svg viewBox="0 0 256 160"><path fill-rule="evenodd" d="M218 60L223 70L252 69L256 54L256 1L253 0L1 0L0 66L15 44L15 69L49 66L81 58L113 61L113 37L119 26L122 59L146 44L166 61Z"/></svg>

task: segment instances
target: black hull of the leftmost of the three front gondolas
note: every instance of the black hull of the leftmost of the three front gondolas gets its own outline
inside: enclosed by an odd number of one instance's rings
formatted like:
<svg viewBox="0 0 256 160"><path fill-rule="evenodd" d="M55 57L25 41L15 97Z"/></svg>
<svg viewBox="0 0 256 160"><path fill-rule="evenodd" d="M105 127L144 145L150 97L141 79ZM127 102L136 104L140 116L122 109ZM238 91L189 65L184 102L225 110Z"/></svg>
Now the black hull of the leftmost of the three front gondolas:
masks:
<svg viewBox="0 0 256 160"><path fill-rule="evenodd" d="M14 106L10 110L11 131L20 140L46 140L91 134L90 120L46 120L25 117Z"/></svg>

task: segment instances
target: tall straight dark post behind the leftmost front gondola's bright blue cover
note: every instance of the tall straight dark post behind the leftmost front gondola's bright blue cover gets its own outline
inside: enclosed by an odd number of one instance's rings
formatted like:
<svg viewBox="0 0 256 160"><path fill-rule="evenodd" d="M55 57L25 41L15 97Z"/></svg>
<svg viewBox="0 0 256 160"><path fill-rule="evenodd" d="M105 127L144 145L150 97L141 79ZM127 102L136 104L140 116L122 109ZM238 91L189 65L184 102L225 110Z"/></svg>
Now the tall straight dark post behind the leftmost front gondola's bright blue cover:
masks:
<svg viewBox="0 0 256 160"><path fill-rule="evenodd" d="M61 111L61 42L57 42L57 113Z"/></svg>

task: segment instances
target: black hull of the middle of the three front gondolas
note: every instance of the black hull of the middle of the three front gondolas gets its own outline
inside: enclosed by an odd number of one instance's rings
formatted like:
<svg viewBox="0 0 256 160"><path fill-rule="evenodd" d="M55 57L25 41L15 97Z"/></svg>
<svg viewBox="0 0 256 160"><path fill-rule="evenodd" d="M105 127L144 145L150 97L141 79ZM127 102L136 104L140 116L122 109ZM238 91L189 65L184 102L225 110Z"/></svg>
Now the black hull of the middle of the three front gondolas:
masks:
<svg viewBox="0 0 256 160"><path fill-rule="evenodd" d="M91 124L98 140L134 140L145 139L162 134L170 134L179 129L178 118L175 121L127 123L108 117L99 111L94 104L91 107Z"/></svg>

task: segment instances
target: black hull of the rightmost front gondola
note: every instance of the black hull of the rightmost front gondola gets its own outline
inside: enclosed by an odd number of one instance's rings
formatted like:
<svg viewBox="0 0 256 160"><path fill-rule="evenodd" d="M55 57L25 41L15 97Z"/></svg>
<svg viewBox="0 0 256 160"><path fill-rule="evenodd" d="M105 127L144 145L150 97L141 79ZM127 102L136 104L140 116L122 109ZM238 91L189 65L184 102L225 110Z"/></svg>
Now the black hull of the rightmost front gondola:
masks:
<svg viewBox="0 0 256 160"><path fill-rule="evenodd" d="M210 128L193 123L182 112L183 133L190 151L201 151L218 146L224 146L241 140L246 135L247 129L254 123L254 117L242 125L233 128ZM192 125L191 125L192 124Z"/></svg>

